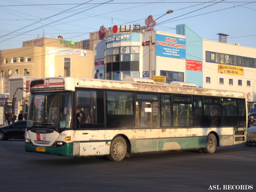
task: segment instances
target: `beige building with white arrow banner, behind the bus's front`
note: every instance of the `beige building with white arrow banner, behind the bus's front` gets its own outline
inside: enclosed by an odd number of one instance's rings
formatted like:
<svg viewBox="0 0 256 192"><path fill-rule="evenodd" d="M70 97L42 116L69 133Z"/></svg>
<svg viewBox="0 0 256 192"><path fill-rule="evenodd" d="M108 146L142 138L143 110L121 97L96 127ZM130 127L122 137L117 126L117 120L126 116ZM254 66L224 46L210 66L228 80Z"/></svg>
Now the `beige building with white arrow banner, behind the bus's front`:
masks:
<svg viewBox="0 0 256 192"><path fill-rule="evenodd" d="M20 74L33 77L93 77L93 52L82 42L56 38L24 41L22 48L0 50L1 78Z"/></svg>

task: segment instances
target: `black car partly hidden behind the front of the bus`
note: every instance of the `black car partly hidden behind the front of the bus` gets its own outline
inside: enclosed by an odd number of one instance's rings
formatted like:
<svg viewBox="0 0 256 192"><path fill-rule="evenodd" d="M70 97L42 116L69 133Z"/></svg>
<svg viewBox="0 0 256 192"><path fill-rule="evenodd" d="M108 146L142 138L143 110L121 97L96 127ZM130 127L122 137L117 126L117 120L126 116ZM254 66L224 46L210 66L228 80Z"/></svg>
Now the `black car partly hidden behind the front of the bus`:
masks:
<svg viewBox="0 0 256 192"><path fill-rule="evenodd" d="M25 139L27 121L17 121L0 127L0 141L7 139Z"/></svg>

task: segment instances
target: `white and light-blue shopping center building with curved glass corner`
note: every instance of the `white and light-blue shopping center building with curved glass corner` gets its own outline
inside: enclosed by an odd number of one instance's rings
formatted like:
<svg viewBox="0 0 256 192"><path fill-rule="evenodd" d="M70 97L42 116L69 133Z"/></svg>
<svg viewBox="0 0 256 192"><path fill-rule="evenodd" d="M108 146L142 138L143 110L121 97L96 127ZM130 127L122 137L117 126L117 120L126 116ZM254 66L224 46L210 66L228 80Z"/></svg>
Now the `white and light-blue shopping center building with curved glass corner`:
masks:
<svg viewBox="0 0 256 192"><path fill-rule="evenodd" d="M176 34L136 27L94 42L94 69L101 78L148 78L152 68L153 76L165 76L165 83L184 81L202 88L243 91L248 112L256 111L255 48L227 44L228 35L221 33L216 34L219 42L205 40L184 24L176 26Z"/></svg>

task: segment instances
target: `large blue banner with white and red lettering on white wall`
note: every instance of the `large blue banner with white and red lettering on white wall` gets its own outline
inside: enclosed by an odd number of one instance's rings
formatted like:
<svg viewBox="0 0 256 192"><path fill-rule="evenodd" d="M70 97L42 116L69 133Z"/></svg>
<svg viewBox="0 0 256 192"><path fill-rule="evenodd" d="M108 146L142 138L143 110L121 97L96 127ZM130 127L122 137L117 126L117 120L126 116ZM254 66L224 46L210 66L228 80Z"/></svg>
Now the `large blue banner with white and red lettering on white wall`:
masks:
<svg viewBox="0 0 256 192"><path fill-rule="evenodd" d="M186 58L186 39L156 34L156 56Z"/></svg>

